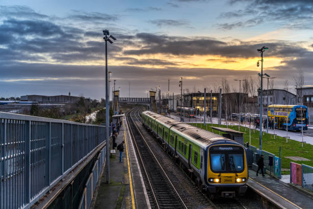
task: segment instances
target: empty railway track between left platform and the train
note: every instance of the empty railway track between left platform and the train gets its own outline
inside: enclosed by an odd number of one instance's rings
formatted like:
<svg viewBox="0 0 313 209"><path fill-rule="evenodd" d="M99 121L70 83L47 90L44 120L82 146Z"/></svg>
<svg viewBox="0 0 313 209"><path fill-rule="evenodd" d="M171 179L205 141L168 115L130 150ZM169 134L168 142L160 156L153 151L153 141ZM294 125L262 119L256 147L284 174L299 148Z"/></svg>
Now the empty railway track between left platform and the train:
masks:
<svg viewBox="0 0 313 209"><path fill-rule="evenodd" d="M151 208L187 208L162 165L149 148L145 137L140 133L137 124L133 121L132 117L135 116L135 112L136 110L129 111L126 114L126 119L139 158L144 182L148 189Z"/></svg>

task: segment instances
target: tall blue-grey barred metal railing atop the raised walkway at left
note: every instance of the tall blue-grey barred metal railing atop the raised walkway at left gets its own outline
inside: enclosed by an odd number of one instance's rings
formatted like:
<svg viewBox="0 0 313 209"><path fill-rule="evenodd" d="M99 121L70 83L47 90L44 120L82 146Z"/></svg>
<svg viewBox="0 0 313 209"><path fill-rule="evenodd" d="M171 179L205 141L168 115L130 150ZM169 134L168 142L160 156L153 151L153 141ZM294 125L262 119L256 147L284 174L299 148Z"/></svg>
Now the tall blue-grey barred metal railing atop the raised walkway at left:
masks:
<svg viewBox="0 0 313 209"><path fill-rule="evenodd" d="M0 208L29 208L104 141L103 126L0 112Z"/></svg>

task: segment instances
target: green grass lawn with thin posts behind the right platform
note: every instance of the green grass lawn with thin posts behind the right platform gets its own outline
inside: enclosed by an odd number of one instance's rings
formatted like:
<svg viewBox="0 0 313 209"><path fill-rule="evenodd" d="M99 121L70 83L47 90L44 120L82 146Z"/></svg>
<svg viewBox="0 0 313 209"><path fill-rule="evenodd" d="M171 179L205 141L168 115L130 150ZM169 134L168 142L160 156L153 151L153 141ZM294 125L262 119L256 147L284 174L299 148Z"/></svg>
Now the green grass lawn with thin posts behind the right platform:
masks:
<svg viewBox="0 0 313 209"><path fill-rule="evenodd" d="M207 124L207 127L204 126L203 123L191 123L193 126L197 126L198 128L207 129L208 131L212 131L211 124ZM218 124L213 124L213 127L218 127ZM225 125L221 125L220 127L226 128ZM228 126L228 128L238 131L238 126ZM245 142L249 142L249 128L244 131L244 127L240 127L240 131L245 133L243 134L243 139ZM213 130L214 133L219 134L219 131ZM251 145L259 148L259 131L254 131L251 129ZM281 147L281 168L290 169L290 162L296 162L298 164L306 164L309 166L313 166L313 145L306 144L305 147L300 147L301 144L299 141L288 139L288 143L286 143L286 138L276 136L274 139L274 135L266 134L262 136L262 150L275 154L275 156L279 157L279 147ZM294 161L290 160L288 156L298 156L304 157L311 161ZM282 171L284 174L289 174L289 171Z"/></svg>

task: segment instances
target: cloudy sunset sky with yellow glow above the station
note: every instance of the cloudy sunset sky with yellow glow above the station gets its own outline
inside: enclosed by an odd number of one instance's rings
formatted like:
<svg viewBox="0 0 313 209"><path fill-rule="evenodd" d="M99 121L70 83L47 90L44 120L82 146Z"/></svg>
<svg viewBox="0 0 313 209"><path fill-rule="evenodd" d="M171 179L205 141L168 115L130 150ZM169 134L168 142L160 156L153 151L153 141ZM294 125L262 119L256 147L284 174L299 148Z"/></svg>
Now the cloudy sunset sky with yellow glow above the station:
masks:
<svg viewBox="0 0 313 209"><path fill-rule="evenodd" d="M176 0L0 2L0 96L68 94L104 97L104 41L108 69L121 96L146 97L160 86L180 92L221 86L227 78L264 72L275 88L302 70L313 85L313 1ZM265 83L266 84L266 83ZM112 86L112 82L111 82ZM233 89L233 88L231 88Z"/></svg>

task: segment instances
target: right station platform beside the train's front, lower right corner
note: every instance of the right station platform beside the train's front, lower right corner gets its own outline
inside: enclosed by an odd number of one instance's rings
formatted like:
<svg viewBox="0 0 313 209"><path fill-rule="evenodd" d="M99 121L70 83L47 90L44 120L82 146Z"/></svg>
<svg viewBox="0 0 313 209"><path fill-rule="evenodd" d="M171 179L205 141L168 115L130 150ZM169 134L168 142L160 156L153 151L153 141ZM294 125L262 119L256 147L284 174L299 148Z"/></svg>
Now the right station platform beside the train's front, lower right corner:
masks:
<svg viewBox="0 0 313 209"><path fill-rule="evenodd" d="M256 176L255 171L249 170L247 185L279 208L313 208L313 193L310 195L267 174Z"/></svg>

